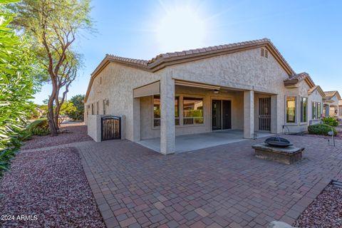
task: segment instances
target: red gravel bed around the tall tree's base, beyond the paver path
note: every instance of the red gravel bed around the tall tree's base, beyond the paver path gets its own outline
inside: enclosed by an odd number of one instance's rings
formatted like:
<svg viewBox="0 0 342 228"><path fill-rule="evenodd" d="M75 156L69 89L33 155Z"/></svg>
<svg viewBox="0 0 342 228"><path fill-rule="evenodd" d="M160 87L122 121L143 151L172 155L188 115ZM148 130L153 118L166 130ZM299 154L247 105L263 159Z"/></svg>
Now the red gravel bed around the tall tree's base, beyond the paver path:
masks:
<svg viewBox="0 0 342 228"><path fill-rule="evenodd" d="M51 137L50 135L33 136L31 140L25 142L24 146L21 147L21 150L92 140L90 136L88 136L87 126L82 123L62 125L60 130L68 130L70 133L62 133L56 137Z"/></svg>

